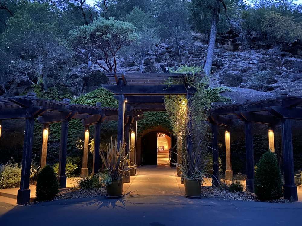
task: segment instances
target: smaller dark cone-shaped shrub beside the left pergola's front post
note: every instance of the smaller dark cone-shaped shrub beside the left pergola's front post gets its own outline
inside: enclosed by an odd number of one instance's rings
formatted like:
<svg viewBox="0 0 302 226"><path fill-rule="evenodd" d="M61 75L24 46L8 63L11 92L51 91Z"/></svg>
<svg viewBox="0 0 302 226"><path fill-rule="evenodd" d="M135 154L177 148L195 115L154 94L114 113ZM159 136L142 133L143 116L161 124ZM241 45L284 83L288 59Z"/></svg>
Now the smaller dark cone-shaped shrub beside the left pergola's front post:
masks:
<svg viewBox="0 0 302 226"><path fill-rule="evenodd" d="M52 166L46 165L38 173L36 197L37 201L47 201L53 199L59 193L59 182Z"/></svg>

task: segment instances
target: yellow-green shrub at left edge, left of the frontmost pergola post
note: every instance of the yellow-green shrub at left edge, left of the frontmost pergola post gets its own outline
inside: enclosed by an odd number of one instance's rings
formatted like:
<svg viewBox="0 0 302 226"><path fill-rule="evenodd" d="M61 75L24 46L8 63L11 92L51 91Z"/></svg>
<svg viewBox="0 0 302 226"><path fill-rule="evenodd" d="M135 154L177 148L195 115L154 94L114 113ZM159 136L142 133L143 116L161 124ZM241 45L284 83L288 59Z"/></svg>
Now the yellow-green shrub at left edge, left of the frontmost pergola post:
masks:
<svg viewBox="0 0 302 226"><path fill-rule="evenodd" d="M21 166L16 162L8 162L0 166L0 188L20 187Z"/></svg>

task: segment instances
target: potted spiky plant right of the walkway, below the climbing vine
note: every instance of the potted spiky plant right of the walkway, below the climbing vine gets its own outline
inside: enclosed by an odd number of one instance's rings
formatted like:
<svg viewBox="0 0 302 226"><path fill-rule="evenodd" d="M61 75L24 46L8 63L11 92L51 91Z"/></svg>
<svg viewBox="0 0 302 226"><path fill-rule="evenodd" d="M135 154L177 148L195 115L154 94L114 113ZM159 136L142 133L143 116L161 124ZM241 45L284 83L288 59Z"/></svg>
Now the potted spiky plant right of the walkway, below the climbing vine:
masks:
<svg viewBox="0 0 302 226"><path fill-rule="evenodd" d="M182 171L185 185L185 197L190 199L201 198L201 184L211 178L212 162L206 159L207 146L202 148L200 143L193 151L178 154L178 163L173 163Z"/></svg>

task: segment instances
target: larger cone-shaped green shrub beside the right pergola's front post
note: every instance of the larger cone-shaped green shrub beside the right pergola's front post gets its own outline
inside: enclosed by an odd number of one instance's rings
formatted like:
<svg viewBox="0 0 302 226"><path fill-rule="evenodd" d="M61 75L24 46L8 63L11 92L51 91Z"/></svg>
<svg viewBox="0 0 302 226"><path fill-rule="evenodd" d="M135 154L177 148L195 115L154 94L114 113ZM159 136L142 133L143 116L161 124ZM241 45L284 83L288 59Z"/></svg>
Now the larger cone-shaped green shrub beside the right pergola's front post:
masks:
<svg viewBox="0 0 302 226"><path fill-rule="evenodd" d="M265 152L255 173L255 194L260 200L278 199L283 196L280 168L275 153Z"/></svg>

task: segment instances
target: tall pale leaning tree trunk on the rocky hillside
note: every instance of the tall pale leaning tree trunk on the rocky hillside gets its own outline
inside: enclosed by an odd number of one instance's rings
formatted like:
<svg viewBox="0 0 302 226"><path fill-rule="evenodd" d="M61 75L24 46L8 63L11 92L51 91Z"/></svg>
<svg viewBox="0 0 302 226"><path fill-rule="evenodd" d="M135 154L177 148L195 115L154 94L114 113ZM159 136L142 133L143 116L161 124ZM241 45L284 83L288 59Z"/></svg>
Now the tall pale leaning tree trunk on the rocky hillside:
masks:
<svg viewBox="0 0 302 226"><path fill-rule="evenodd" d="M215 7L213 9L213 17L212 17L212 24L211 24L209 47L208 47L208 52L207 52L207 60L204 65L204 73L207 77L209 77L211 75L211 67L212 67L212 61L213 61L214 46L215 46L215 41L216 41L216 32L217 32L217 24L218 24L218 20L219 20L219 13L220 13L220 5L219 5L219 0L217 0Z"/></svg>

